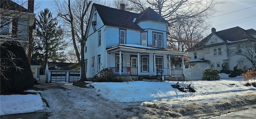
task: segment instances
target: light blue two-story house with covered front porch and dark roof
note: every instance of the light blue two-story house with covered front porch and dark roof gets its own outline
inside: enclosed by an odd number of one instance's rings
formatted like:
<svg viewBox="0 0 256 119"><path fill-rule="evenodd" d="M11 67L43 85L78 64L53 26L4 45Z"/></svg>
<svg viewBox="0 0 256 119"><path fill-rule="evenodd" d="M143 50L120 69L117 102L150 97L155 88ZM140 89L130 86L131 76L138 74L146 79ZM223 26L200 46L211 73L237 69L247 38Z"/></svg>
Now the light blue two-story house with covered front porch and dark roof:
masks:
<svg viewBox="0 0 256 119"><path fill-rule="evenodd" d="M167 48L167 27L170 25L151 8L136 14L99 4L92 4L86 29L86 77L92 78L103 68L115 75L182 76L182 69L171 69L170 57L187 52Z"/></svg>

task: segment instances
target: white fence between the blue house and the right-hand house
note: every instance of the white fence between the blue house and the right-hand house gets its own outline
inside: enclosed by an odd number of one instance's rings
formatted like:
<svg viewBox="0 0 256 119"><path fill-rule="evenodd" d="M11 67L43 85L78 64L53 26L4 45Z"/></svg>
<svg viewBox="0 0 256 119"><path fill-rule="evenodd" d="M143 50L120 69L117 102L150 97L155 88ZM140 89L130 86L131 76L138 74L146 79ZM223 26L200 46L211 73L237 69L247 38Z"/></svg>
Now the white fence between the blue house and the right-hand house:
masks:
<svg viewBox="0 0 256 119"><path fill-rule="evenodd" d="M203 72L208 68L184 68L184 76L190 80L202 80Z"/></svg>

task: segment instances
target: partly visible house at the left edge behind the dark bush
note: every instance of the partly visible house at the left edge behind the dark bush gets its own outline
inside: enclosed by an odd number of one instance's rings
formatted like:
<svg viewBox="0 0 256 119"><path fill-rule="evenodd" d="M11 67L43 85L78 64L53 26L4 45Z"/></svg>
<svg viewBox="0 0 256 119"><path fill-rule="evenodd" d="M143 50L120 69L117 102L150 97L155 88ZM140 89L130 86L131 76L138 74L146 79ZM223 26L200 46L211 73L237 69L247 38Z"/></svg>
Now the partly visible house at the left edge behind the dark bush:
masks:
<svg viewBox="0 0 256 119"><path fill-rule="evenodd" d="M28 55L29 26L34 25L35 14L11 0L0 1L0 13L0 43L17 41Z"/></svg>

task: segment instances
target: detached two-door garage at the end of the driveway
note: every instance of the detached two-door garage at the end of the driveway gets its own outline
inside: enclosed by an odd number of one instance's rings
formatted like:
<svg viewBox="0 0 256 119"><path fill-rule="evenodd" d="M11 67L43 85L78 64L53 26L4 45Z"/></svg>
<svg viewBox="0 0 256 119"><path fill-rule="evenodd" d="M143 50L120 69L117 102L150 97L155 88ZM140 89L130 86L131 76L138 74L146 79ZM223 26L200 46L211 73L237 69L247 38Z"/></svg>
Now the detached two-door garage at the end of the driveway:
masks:
<svg viewBox="0 0 256 119"><path fill-rule="evenodd" d="M47 62L45 68L46 83L77 82L80 80L78 63Z"/></svg>

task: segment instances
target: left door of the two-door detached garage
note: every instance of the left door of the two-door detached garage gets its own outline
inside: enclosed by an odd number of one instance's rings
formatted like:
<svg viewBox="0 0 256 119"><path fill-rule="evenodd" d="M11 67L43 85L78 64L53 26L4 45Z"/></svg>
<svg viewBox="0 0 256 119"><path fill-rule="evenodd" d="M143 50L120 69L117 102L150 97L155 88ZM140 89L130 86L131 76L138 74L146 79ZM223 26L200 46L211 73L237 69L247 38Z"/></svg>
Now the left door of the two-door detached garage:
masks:
<svg viewBox="0 0 256 119"><path fill-rule="evenodd" d="M51 72L51 83L66 82L66 72Z"/></svg>

